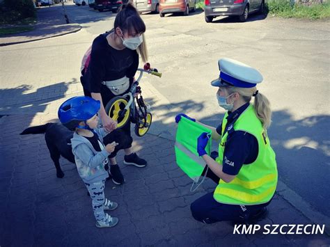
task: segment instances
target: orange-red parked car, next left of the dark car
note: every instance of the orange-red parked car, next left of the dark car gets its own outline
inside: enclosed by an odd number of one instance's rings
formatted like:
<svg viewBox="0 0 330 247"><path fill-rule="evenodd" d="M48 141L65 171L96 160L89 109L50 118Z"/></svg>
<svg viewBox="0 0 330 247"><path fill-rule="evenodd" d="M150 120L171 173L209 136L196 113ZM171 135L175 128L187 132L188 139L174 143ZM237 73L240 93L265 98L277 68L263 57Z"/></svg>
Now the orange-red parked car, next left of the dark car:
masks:
<svg viewBox="0 0 330 247"><path fill-rule="evenodd" d="M168 13L183 13L189 15L189 11L196 11L197 0L159 0L159 15L164 17Z"/></svg>

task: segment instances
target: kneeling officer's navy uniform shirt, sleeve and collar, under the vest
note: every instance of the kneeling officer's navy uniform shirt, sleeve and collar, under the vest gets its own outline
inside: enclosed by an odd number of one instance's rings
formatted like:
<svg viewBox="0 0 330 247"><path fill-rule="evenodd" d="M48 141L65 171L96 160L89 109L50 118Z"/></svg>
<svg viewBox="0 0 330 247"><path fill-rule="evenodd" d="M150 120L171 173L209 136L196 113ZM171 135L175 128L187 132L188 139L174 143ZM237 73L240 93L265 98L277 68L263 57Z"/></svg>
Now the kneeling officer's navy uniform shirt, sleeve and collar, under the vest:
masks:
<svg viewBox="0 0 330 247"><path fill-rule="evenodd" d="M246 103L236 111L228 112L227 125L224 131L224 133L228 132L228 136L222 161L222 171L228 175L237 175L243 165L249 166L258 157L257 138L248 132L233 131L233 127L231 127L248 106L249 103ZM221 135L221 128L222 124L217 127L219 135ZM228 131L228 129L232 131Z"/></svg>

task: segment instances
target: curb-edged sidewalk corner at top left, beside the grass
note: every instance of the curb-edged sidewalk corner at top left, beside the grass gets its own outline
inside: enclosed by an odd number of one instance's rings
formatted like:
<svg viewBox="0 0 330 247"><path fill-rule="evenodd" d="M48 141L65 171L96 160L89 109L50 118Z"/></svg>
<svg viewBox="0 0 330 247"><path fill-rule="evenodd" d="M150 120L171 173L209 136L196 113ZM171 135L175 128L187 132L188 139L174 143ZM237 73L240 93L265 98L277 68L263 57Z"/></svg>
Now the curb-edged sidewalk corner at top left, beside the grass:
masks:
<svg viewBox="0 0 330 247"><path fill-rule="evenodd" d="M81 29L79 24L67 24L62 4L38 8L37 15L37 23L31 25L34 27L33 31L0 36L0 46L44 40L68 33L75 33Z"/></svg>

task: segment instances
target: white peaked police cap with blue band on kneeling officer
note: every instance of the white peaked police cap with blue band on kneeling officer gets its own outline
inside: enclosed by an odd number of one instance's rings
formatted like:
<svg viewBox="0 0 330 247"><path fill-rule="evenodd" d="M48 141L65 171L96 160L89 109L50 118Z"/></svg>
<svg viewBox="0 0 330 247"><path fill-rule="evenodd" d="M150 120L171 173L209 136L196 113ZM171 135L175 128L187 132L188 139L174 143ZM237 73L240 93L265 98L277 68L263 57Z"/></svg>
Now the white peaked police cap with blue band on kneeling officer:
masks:
<svg viewBox="0 0 330 247"><path fill-rule="evenodd" d="M235 86L238 88L253 88L262 81L258 70L230 58L221 58L218 61L219 78L211 82L212 86Z"/></svg>

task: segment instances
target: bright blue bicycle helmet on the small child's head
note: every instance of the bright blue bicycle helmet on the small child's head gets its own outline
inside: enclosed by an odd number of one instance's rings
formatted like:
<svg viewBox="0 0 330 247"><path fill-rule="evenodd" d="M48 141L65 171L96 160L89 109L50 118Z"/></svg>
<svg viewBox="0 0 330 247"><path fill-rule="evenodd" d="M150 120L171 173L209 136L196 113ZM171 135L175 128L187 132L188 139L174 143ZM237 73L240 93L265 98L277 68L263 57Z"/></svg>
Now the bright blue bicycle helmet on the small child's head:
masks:
<svg viewBox="0 0 330 247"><path fill-rule="evenodd" d="M85 122L100 110L100 101L91 97L78 96L72 97L58 109L58 118L61 123L70 130L79 127L79 122ZM89 129L88 126L81 127Z"/></svg>

